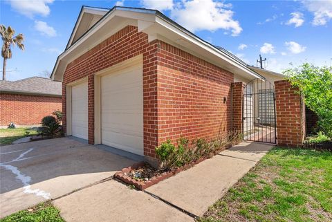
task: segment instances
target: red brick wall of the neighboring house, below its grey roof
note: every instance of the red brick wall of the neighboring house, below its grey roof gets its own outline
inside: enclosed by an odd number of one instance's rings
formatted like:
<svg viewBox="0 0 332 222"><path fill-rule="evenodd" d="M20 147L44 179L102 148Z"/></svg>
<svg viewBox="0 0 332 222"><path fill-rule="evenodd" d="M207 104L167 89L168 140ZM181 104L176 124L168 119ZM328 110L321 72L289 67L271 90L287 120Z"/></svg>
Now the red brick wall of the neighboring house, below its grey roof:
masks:
<svg viewBox="0 0 332 222"><path fill-rule="evenodd" d="M40 124L44 116L51 115L55 110L62 110L62 98L0 94L0 126L10 122L17 125Z"/></svg>

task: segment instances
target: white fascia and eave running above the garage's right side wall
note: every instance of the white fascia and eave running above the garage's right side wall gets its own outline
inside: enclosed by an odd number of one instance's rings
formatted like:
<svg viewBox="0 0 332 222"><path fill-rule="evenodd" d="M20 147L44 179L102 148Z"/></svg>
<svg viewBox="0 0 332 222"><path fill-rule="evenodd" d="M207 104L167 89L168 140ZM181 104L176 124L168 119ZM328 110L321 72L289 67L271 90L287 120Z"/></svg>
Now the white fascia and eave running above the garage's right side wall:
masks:
<svg viewBox="0 0 332 222"><path fill-rule="evenodd" d="M171 24L166 19L163 19L163 17L159 17L158 15L156 15L156 23L160 24L161 26L164 26L165 28L168 28L169 30L172 30L177 35L180 35L187 41L190 41L193 44L200 46L204 50L208 50L213 55L216 55L216 56L220 57L221 59L223 59L224 61L232 64L233 66L240 68L242 71L248 73L249 75L252 75L253 77L256 77L256 78L261 78L261 76L259 74L255 73L254 71L251 71L246 66L243 66L240 62L237 62L236 60L230 58L229 56L224 55L223 53L221 53L220 50L214 48L213 46L210 46L210 44L207 44L206 42L199 39L198 37L195 37L194 35L192 35L190 33L185 33L183 30L180 30L178 27L174 26L174 24Z"/></svg>

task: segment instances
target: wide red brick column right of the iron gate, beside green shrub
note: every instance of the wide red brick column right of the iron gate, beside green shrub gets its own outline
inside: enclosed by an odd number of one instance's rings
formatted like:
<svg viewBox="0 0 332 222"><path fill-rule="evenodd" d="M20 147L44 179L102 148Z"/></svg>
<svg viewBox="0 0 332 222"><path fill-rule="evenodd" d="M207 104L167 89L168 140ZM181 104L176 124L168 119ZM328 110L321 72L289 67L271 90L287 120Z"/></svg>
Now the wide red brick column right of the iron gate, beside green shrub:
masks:
<svg viewBox="0 0 332 222"><path fill-rule="evenodd" d="M277 145L299 147L305 136L305 107L298 89L288 80L275 82Z"/></svg>

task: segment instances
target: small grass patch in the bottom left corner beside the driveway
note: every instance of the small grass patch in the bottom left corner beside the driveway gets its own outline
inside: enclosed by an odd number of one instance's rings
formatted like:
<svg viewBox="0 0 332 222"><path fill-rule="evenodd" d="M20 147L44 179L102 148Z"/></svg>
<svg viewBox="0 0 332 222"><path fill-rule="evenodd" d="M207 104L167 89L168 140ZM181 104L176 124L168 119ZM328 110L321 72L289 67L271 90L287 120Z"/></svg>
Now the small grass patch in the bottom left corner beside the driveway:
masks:
<svg viewBox="0 0 332 222"><path fill-rule="evenodd" d="M59 210L53 207L50 201L40 203L28 210L21 210L0 219L0 222L64 222Z"/></svg>

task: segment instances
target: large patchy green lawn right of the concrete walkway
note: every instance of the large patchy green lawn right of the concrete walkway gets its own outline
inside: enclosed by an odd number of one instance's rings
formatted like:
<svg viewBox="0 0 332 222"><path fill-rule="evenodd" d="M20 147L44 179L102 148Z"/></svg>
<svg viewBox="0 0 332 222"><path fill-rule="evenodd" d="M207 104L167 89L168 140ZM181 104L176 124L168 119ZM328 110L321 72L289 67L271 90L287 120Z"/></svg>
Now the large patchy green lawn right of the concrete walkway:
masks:
<svg viewBox="0 0 332 222"><path fill-rule="evenodd" d="M332 153L272 149L199 221L332 221Z"/></svg>

